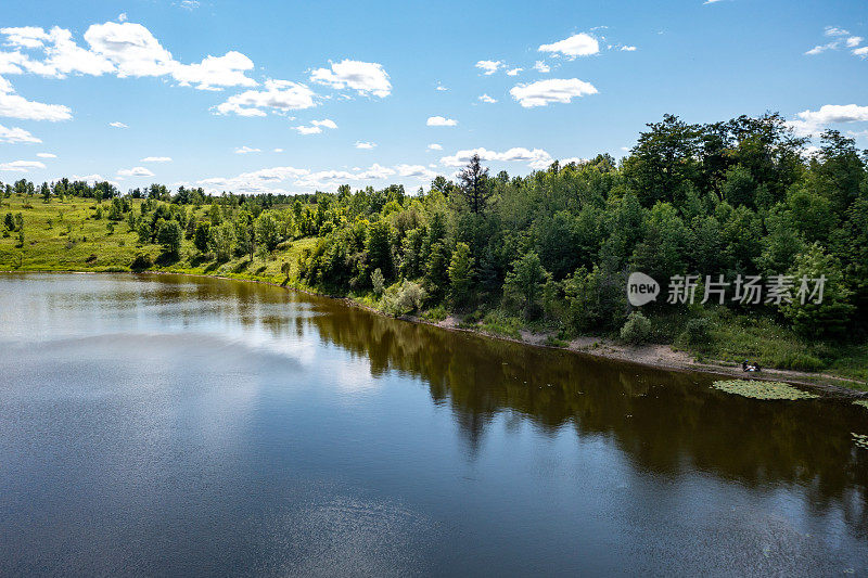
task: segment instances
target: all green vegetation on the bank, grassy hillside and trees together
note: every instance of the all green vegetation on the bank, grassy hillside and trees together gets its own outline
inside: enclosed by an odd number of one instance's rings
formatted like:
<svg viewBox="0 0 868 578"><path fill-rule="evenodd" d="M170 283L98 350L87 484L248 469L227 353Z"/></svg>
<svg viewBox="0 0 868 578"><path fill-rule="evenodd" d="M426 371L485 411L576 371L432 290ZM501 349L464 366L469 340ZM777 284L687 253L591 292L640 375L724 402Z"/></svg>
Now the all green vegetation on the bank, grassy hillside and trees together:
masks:
<svg viewBox="0 0 868 578"><path fill-rule="evenodd" d="M607 154L526 177L474 156L454 180L297 196L62 179L4 185L0 268L169 270L349 296L392 314L551 345L580 335L671 344L706 360L868 380L866 154L837 131L817 149L778 115L651 124ZM698 274L693 304L666 290L627 301L630 272ZM787 275L794 303L744 303L703 280ZM800 280L825 277L819 304Z"/></svg>

